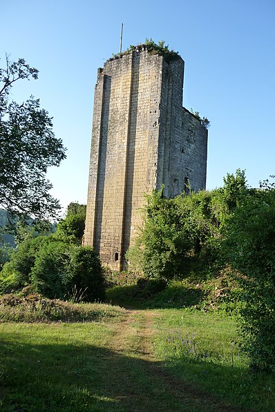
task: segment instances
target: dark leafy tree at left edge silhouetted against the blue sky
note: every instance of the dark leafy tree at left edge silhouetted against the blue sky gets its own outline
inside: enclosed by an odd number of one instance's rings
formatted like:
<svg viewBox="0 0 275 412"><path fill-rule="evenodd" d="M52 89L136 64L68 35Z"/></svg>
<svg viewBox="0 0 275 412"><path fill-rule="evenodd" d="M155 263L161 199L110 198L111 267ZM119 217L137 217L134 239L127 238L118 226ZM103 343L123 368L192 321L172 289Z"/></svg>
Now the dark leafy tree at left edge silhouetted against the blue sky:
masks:
<svg viewBox="0 0 275 412"><path fill-rule="evenodd" d="M24 219L50 219L60 206L49 194L46 171L66 157L64 146L39 99L9 100L15 82L31 77L37 79L38 70L24 59L11 63L6 57L6 68L0 68L0 206Z"/></svg>

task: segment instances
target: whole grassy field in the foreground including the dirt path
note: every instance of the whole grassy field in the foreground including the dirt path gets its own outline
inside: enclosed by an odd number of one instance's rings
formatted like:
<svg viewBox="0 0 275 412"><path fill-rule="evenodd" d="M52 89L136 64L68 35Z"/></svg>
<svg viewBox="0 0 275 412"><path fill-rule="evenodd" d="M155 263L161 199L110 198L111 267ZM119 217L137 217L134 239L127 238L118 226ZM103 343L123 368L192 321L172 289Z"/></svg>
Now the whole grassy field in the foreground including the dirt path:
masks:
<svg viewBox="0 0 275 412"><path fill-rule="evenodd" d="M249 371L225 314L70 304L68 322L33 300L0 304L1 411L275 410L274 375Z"/></svg>

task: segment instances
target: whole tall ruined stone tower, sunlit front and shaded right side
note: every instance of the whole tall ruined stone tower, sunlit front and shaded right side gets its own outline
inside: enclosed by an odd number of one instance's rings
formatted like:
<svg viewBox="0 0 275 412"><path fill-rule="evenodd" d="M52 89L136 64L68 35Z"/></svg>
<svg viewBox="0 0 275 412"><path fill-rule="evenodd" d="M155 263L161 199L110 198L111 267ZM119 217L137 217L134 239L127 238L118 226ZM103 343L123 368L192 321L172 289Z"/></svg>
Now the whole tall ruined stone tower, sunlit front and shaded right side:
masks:
<svg viewBox="0 0 275 412"><path fill-rule="evenodd" d="M144 193L205 189L207 129L182 108L184 61L137 46L97 71L84 244L113 269L142 224Z"/></svg>

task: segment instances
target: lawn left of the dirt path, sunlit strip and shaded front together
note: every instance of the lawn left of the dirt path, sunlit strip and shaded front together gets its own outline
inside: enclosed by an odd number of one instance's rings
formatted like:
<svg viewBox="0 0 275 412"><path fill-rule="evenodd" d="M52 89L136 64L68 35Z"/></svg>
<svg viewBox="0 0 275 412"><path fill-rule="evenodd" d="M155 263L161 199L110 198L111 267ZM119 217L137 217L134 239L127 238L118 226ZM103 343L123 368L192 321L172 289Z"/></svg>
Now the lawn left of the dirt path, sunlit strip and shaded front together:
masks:
<svg viewBox="0 0 275 412"><path fill-rule="evenodd" d="M121 321L121 319L120 319ZM0 409L9 411L207 411L171 387L140 339L114 348L121 322L0 324ZM142 327L139 315L131 328ZM216 409L214 409L216 410Z"/></svg>

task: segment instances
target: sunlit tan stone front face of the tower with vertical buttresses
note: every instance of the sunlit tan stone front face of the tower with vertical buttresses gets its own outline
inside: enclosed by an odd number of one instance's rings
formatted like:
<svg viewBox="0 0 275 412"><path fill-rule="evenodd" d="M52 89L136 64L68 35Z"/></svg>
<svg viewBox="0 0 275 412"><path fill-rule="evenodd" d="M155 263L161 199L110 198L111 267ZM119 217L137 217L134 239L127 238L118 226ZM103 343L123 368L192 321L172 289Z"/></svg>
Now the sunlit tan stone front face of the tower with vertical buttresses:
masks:
<svg viewBox="0 0 275 412"><path fill-rule="evenodd" d="M84 244L121 268L155 187L162 57L132 52L99 70Z"/></svg>

